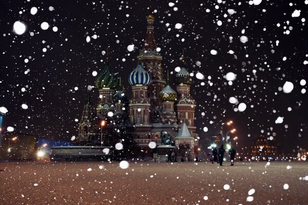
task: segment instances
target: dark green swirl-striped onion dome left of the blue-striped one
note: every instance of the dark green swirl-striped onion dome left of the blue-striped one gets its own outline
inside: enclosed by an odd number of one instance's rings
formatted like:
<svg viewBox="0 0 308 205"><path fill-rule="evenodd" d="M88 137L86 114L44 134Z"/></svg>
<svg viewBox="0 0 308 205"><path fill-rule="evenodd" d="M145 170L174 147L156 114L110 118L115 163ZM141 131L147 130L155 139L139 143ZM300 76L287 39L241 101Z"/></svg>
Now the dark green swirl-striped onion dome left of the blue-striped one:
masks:
<svg viewBox="0 0 308 205"><path fill-rule="evenodd" d="M119 86L119 78L110 71L109 63L103 69L102 73L95 80L97 88L117 88Z"/></svg>

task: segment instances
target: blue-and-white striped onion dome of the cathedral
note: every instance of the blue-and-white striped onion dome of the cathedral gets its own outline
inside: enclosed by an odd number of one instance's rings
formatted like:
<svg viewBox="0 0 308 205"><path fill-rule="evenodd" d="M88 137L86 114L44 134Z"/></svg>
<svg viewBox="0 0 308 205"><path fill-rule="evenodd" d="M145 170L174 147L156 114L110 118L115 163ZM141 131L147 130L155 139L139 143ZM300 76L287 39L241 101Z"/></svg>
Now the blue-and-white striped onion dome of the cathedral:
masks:
<svg viewBox="0 0 308 205"><path fill-rule="evenodd" d="M144 70L141 63L129 74L128 81L130 85L149 85L151 76Z"/></svg>

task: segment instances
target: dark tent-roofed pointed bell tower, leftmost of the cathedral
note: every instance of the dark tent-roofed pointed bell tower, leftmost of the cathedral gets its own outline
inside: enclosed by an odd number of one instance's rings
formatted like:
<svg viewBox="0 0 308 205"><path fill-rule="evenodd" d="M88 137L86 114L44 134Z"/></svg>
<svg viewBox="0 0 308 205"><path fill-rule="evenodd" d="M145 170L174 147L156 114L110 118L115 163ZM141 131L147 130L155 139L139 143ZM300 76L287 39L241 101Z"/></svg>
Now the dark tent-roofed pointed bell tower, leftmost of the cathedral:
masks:
<svg viewBox="0 0 308 205"><path fill-rule="evenodd" d="M95 133L95 108L92 104L92 99L90 92L87 92L87 97L85 100L85 105L83 109L83 113L81 116L81 120L79 122L79 134L76 139L76 141L79 144L87 144L90 140L91 137L94 136Z"/></svg>

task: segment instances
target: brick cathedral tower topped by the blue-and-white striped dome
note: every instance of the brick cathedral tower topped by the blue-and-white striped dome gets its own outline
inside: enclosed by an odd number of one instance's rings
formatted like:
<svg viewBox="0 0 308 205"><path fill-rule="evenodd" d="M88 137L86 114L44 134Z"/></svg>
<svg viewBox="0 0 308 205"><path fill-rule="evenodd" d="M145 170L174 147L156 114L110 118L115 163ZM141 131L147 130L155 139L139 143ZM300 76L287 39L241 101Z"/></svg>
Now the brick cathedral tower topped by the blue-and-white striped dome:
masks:
<svg viewBox="0 0 308 205"><path fill-rule="evenodd" d="M147 97L151 76L144 70L140 58L138 66L130 73L128 81L132 89L129 100L130 123L135 126L136 137L144 138L151 130L150 100Z"/></svg>

